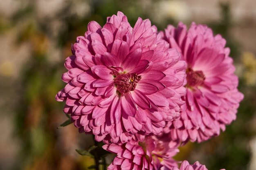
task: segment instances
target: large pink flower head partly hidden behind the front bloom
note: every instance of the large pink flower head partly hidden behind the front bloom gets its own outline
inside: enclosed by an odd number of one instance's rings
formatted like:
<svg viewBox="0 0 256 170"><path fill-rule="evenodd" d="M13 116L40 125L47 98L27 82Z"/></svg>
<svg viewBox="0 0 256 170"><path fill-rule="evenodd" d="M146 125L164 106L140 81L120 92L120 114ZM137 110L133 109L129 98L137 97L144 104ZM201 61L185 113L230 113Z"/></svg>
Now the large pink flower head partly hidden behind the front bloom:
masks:
<svg viewBox="0 0 256 170"><path fill-rule="evenodd" d="M182 23L177 28L169 25L158 38L167 40L187 62L186 108L180 118L167 124L165 132L180 141L201 142L219 135L220 129L225 130L225 125L236 119L243 99L226 41L195 23L189 30Z"/></svg>

